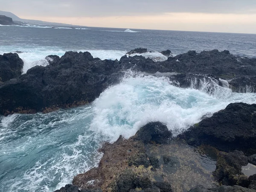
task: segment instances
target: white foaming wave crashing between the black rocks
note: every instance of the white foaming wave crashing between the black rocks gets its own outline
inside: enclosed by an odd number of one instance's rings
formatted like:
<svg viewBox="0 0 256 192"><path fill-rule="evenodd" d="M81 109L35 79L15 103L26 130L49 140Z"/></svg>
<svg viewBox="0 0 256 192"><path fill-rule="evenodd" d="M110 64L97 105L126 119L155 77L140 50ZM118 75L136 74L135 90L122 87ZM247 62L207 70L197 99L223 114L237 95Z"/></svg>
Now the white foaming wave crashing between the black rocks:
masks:
<svg viewBox="0 0 256 192"><path fill-rule="evenodd" d="M213 87L218 86L214 83ZM182 89L165 77L127 77L95 100L91 129L113 142L119 135L131 137L148 122L160 121L177 135L205 114L224 109L231 102L256 102L255 93L232 93L218 86L209 95L204 85L201 90Z"/></svg>

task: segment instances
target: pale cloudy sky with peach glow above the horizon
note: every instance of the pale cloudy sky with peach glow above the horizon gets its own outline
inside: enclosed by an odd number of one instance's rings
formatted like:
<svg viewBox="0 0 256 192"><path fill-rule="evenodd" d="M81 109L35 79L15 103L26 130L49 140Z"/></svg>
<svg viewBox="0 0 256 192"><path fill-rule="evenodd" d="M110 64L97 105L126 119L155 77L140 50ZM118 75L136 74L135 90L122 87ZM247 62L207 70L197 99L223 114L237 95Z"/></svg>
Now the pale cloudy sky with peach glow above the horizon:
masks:
<svg viewBox="0 0 256 192"><path fill-rule="evenodd" d="M125 29L256 33L256 0L0 0L23 19Z"/></svg>

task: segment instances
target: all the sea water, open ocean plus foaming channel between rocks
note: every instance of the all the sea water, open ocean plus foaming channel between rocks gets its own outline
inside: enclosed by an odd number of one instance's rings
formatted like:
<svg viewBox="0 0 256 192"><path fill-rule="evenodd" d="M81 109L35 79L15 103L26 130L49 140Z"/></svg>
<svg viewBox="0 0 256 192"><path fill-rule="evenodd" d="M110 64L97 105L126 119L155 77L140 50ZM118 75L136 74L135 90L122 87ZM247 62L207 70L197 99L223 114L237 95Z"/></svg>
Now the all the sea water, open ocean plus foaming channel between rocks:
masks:
<svg viewBox="0 0 256 192"><path fill-rule="evenodd" d="M101 59L120 59L137 47L155 61L189 50L227 49L256 57L256 35L51 26L0 26L0 54L21 51L23 73L46 66L47 55L89 51ZM75 175L97 166L97 149L119 135L129 138L147 122L166 123L174 135L186 131L204 115L231 102L256 103L256 93L232 93L214 81L200 90L182 89L165 77L127 71L120 84L109 87L92 104L52 113L0 116L0 191L52 192ZM209 94L211 90L211 94Z"/></svg>

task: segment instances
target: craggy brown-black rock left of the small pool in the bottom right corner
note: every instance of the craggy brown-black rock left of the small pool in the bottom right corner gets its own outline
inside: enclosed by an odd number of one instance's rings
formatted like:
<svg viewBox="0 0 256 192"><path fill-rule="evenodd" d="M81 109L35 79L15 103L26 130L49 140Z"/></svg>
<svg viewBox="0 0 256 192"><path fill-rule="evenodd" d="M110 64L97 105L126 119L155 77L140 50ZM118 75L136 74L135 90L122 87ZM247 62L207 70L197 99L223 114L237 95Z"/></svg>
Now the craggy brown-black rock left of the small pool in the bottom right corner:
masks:
<svg viewBox="0 0 256 192"><path fill-rule="evenodd" d="M241 170L242 166L248 164L248 158L244 156L242 151L225 153L219 152L217 157L216 170L213 176L223 185L239 185L248 187L250 181Z"/></svg>

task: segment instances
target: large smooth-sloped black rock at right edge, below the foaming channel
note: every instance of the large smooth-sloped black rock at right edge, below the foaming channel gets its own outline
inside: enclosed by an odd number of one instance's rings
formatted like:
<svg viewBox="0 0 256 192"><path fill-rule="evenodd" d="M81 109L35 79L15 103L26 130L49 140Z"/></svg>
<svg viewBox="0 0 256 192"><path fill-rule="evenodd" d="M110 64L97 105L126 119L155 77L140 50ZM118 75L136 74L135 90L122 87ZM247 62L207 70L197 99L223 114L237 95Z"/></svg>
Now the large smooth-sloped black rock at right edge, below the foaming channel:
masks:
<svg viewBox="0 0 256 192"><path fill-rule="evenodd" d="M207 144L221 151L256 153L256 104L231 103L226 109L180 135L190 145Z"/></svg>

